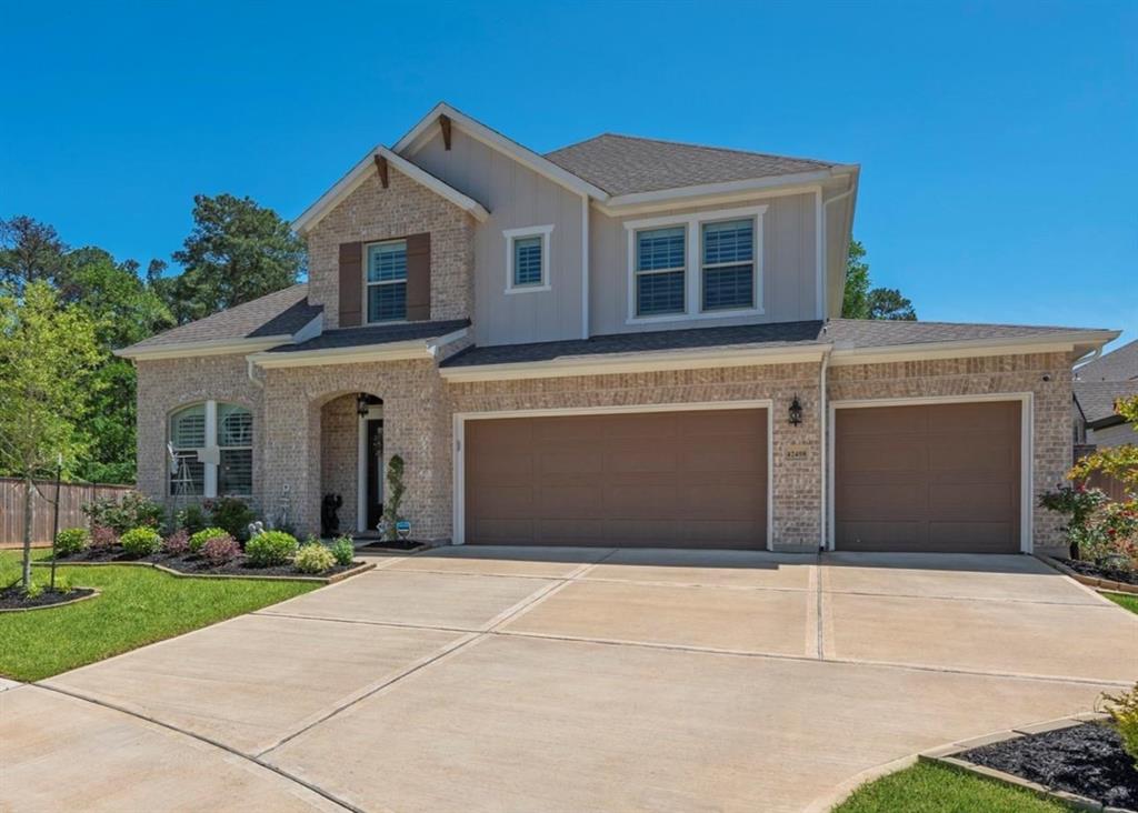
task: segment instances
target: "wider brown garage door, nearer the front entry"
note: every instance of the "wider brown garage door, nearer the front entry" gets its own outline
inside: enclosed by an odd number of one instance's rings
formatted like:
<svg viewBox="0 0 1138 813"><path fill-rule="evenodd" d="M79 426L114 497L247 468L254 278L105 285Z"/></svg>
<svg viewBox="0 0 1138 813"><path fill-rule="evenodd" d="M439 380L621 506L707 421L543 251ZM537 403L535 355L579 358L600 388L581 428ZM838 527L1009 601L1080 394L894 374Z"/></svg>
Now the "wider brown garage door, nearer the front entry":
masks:
<svg viewBox="0 0 1138 813"><path fill-rule="evenodd" d="M765 409L465 423L465 540L762 548Z"/></svg>

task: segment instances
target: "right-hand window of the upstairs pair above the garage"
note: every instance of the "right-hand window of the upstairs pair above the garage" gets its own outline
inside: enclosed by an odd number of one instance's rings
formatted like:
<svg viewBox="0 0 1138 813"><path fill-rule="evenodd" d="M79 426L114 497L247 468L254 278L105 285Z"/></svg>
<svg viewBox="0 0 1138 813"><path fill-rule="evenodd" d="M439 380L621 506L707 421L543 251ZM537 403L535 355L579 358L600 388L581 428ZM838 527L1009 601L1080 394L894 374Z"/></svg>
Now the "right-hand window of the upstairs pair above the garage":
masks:
<svg viewBox="0 0 1138 813"><path fill-rule="evenodd" d="M754 307L754 218L702 224L702 310Z"/></svg>

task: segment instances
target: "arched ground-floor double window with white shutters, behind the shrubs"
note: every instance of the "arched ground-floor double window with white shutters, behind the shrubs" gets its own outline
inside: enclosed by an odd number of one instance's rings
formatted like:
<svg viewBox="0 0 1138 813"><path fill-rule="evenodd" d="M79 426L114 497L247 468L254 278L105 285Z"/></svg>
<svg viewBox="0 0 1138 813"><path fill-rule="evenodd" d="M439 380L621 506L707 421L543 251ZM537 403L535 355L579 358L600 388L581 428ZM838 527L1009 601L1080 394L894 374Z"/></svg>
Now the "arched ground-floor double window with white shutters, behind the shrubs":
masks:
<svg viewBox="0 0 1138 813"><path fill-rule="evenodd" d="M179 409L170 416L170 446L171 495L253 495L253 413L247 408L211 400Z"/></svg>

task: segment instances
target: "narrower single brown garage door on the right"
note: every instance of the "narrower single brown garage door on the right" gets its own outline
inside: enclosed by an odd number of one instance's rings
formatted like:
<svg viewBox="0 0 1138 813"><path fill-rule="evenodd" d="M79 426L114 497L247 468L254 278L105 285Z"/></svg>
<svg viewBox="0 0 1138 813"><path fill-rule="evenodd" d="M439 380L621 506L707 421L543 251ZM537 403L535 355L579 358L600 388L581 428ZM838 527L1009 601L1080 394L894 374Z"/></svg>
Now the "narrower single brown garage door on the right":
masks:
<svg viewBox="0 0 1138 813"><path fill-rule="evenodd" d="M1017 553L1019 401L834 413L839 550Z"/></svg>

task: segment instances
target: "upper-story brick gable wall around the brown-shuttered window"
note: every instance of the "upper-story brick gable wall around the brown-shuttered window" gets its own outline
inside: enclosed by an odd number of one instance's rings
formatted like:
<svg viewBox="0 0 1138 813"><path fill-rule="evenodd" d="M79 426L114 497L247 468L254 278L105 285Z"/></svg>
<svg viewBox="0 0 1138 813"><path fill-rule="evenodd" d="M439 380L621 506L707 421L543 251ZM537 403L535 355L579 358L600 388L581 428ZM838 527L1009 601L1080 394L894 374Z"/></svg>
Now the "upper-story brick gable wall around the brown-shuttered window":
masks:
<svg viewBox="0 0 1138 813"><path fill-rule="evenodd" d="M340 324L340 243L422 232L430 232L431 318L469 318L473 313L473 218L394 167L388 180L384 189L379 176L371 175L308 234L308 300L324 306L327 329Z"/></svg>

